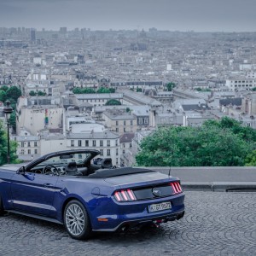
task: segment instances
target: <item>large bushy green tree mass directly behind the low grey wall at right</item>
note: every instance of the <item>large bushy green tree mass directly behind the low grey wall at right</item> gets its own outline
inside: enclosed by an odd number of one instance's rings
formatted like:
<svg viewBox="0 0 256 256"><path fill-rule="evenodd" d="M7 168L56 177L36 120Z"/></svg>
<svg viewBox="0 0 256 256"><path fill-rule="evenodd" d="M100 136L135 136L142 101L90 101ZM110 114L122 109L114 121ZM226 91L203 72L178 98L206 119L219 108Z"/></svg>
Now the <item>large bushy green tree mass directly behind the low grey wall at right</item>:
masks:
<svg viewBox="0 0 256 256"><path fill-rule="evenodd" d="M225 117L201 127L160 127L141 143L139 166L244 166L256 131Z"/></svg>

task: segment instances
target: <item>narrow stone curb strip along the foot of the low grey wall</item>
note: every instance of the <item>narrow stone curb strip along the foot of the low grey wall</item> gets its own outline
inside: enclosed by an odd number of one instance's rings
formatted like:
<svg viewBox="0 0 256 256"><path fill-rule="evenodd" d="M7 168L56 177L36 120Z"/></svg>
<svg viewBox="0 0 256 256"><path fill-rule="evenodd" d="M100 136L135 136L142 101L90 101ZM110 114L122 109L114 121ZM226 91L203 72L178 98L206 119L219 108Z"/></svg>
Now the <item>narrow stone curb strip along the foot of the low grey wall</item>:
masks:
<svg viewBox="0 0 256 256"><path fill-rule="evenodd" d="M184 191L256 192L256 182L181 182Z"/></svg>

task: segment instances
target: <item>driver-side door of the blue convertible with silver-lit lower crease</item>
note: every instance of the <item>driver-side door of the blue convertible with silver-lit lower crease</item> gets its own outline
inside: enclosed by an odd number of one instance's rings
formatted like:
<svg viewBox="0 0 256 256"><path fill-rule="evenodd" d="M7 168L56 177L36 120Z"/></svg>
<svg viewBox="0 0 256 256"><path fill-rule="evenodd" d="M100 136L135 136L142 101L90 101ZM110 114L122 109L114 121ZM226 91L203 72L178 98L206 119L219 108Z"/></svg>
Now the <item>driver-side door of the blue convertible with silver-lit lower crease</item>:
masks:
<svg viewBox="0 0 256 256"><path fill-rule="evenodd" d="M32 172L16 173L11 184L15 210L53 217L55 184L58 176Z"/></svg>

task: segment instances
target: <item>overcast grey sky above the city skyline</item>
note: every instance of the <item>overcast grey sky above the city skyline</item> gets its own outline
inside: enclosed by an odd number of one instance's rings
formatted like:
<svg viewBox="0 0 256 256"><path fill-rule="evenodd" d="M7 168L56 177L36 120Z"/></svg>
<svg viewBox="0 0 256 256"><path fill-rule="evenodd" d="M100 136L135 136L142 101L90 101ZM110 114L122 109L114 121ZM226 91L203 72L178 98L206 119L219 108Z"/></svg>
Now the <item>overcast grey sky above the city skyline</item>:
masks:
<svg viewBox="0 0 256 256"><path fill-rule="evenodd" d="M0 27L256 31L256 0L0 0Z"/></svg>

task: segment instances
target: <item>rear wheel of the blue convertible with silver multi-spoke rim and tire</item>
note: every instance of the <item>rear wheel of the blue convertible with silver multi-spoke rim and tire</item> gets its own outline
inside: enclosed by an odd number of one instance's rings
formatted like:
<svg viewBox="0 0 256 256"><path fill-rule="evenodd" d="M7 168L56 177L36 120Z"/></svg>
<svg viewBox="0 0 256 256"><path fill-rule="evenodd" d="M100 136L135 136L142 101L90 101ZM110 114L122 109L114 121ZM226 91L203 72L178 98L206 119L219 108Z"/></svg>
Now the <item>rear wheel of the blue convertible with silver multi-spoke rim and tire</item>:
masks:
<svg viewBox="0 0 256 256"><path fill-rule="evenodd" d="M69 201L63 212L64 226L69 236L78 240L88 239L92 233L90 218L83 204Z"/></svg>

